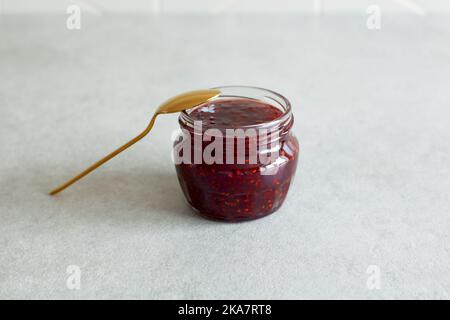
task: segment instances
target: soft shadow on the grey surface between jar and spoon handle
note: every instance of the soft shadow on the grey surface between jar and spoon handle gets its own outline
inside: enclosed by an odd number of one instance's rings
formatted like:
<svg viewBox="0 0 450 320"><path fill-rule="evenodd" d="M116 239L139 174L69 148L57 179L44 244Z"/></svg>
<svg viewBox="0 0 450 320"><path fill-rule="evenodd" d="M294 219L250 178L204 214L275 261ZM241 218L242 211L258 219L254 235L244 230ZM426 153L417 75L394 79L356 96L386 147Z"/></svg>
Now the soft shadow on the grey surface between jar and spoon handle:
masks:
<svg viewBox="0 0 450 320"><path fill-rule="evenodd" d="M42 186L42 181L39 184ZM198 224L202 219L185 201L175 172L149 168L92 174L49 200L60 210L89 220L137 223L182 219Z"/></svg>

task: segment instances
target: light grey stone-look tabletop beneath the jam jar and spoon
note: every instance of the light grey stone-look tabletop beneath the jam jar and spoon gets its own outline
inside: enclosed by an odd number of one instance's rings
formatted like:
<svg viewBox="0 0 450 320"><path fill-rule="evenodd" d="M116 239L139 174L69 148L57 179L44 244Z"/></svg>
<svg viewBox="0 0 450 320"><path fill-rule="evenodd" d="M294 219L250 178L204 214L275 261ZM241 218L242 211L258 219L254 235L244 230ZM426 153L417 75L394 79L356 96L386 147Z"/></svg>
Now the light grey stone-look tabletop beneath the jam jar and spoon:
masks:
<svg viewBox="0 0 450 320"><path fill-rule="evenodd" d="M365 14L65 18L0 16L1 298L449 298L448 17L383 16L380 31ZM193 213L175 115L46 194L165 98L225 84L293 103L301 157L276 214Z"/></svg>

